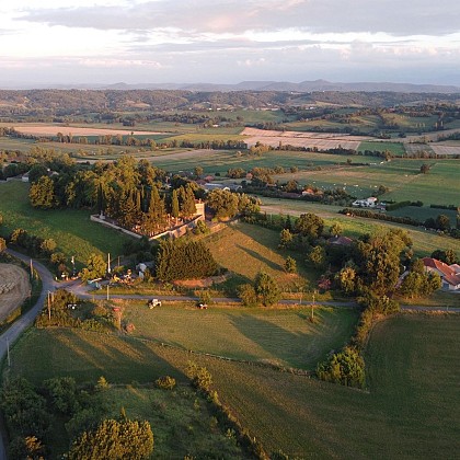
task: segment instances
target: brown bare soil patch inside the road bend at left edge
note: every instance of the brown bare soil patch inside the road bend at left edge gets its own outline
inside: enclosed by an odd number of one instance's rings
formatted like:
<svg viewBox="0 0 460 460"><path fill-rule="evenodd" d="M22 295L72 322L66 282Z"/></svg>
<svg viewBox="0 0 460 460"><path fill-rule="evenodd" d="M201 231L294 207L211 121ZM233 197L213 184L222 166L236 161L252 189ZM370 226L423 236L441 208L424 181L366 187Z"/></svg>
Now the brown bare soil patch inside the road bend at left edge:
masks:
<svg viewBox="0 0 460 460"><path fill-rule="evenodd" d="M31 294L26 272L11 264L0 264L0 321L20 306Z"/></svg>

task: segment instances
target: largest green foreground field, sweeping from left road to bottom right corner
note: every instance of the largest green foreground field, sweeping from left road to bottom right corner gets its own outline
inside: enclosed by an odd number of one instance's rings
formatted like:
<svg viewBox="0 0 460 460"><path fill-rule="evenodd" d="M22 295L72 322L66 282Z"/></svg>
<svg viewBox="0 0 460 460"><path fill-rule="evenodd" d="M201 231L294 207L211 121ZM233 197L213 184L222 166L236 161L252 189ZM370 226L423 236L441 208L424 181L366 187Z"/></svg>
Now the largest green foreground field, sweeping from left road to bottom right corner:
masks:
<svg viewBox="0 0 460 460"><path fill-rule="evenodd" d="M368 392L129 337L58 329L27 332L12 349L10 372L34 382L64 375L151 382L165 373L181 382L193 359L210 370L220 399L268 451L453 459L460 448L459 336L459 315L406 314L379 323L367 350ZM148 396L141 401L149 405Z"/></svg>

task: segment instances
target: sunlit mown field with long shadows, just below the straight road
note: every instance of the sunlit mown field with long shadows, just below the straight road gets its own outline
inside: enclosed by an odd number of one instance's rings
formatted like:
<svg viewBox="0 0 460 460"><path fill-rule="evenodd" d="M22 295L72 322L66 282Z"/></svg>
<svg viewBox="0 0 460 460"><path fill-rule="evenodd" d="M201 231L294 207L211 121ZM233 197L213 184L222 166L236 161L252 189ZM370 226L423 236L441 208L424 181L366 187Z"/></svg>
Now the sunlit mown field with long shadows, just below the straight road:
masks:
<svg viewBox="0 0 460 460"><path fill-rule="evenodd" d="M124 319L135 335L200 353L313 370L331 349L350 337L358 312L349 309L289 309L164 304L149 310L146 303L125 303Z"/></svg>

